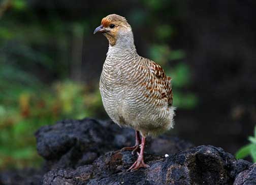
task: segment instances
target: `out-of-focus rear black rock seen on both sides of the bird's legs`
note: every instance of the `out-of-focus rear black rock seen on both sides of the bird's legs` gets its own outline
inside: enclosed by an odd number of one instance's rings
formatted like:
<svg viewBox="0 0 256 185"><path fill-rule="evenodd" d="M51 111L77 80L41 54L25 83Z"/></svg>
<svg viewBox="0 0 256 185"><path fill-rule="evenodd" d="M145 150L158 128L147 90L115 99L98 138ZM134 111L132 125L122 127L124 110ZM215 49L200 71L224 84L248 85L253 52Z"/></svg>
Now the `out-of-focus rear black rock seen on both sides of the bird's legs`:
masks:
<svg viewBox="0 0 256 185"><path fill-rule="evenodd" d="M94 119L65 120L43 126L36 132L38 153L49 169L76 168L91 164L100 155L134 145L134 130L113 122ZM162 136L147 141L146 151L154 155L177 153L193 145L175 137Z"/></svg>

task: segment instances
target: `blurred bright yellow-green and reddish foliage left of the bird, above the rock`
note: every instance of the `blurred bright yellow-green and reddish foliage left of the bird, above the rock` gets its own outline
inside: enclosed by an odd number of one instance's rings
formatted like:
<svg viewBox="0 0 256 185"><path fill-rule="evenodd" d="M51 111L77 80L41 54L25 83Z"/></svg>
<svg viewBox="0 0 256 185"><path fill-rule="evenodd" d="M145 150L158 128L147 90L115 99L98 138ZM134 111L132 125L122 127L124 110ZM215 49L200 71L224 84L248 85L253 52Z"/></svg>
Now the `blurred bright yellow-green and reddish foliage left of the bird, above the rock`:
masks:
<svg viewBox="0 0 256 185"><path fill-rule="evenodd" d="M34 137L39 127L65 118L95 116L95 110L103 109L99 91L78 82L56 82L40 90L10 86L8 90L17 95L14 99L6 95L0 102L0 168L39 166Z"/></svg>

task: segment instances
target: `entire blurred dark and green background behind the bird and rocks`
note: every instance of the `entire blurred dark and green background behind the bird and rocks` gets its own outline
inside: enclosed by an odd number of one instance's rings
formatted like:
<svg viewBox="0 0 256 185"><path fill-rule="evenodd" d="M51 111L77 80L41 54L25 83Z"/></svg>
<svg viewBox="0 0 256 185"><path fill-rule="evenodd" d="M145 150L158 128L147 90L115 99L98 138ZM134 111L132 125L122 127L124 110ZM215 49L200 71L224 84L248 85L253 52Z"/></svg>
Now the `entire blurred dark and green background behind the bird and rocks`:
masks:
<svg viewBox="0 0 256 185"><path fill-rule="evenodd" d="M0 1L0 169L40 166L34 132L62 119L109 119L99 93L116 13L140 55L173 78L168 134L235 154L256 123L256 1Z"/></svg>

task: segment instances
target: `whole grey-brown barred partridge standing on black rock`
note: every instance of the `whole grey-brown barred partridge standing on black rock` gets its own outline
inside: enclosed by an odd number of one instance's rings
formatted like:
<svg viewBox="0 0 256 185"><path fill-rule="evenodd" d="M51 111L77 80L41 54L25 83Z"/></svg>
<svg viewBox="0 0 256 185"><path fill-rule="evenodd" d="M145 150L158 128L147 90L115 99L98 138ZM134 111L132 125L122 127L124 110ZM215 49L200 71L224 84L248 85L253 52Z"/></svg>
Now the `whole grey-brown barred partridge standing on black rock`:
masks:
<svg viewBox="0 0 256 185"><path fill-rule="evenodd" d="M171 77L156 62L137 53L132 27L124 17L104 17L95 33L102 33L109 41L100 77L103 106L116 124L135 130L135 146L121 150L131 150L133 154L140 150L128 170L148 168L144 162L146 137L174 126Z"/></svg>

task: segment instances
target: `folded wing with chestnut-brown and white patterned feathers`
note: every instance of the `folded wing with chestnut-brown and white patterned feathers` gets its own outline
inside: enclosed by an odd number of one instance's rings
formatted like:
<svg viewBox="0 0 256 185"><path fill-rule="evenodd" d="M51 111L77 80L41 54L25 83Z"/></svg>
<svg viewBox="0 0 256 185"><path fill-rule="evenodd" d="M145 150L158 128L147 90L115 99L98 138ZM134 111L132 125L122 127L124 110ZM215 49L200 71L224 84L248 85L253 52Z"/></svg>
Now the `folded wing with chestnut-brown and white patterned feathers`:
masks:
<svg viewBox="0 0 256 185"><path fill-rule="evenodd" d="M155 89L156 94L158 94L157 98L167 98L168 104L171 106L173 103L171 77L166 76L164 69L160 65L149 59L147 60L150 71L156 78L154 81L157 83L157 88Z"/></svg>

